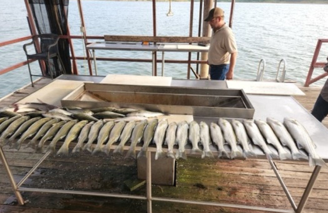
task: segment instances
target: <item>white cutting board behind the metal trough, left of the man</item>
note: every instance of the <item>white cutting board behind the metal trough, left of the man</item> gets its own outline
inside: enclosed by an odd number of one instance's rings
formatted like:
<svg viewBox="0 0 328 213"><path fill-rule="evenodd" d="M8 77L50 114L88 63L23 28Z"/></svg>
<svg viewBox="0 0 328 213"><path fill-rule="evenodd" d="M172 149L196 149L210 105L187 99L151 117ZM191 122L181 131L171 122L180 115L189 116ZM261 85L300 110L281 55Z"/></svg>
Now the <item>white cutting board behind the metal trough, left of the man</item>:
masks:
<svg viewBox="0 0 328 213"><path fill-rule="evenodd" d="M146 86L171 86L172 77L169 76L143 76L143 75L107 75L102 84L127 84Z"/></svg>

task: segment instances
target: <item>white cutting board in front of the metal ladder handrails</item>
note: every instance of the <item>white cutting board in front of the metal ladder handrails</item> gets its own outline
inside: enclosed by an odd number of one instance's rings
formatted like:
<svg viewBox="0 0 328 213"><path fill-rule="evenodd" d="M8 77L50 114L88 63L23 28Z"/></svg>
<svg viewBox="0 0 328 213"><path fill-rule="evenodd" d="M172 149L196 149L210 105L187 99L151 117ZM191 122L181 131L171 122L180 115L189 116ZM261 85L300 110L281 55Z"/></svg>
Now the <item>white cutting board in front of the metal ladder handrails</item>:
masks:
<svg viewBox="0 0 328 213"><path fill-rule="evenodd" d="M226 81L229 89L243 89L248 94L305 95L294 83Z"/></svg>

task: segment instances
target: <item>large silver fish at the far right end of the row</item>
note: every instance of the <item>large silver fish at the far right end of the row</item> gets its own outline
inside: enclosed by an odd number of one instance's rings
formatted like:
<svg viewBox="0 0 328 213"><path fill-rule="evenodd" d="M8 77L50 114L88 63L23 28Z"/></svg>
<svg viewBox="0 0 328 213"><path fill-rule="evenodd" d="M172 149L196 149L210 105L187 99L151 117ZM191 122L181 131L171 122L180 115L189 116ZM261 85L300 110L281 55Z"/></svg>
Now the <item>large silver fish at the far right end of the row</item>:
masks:
<svg viewBox="0 0 328 213"><path fill-rule="evenodd" d="M316 152L316 145L311 139L309 133L306 131L303 125L293 118L284 118L284 125L287 127L291 136L295 139L299 148L304 148L309 154L309 165L310 166L325 166L327 164L320 158Z"/></svg>

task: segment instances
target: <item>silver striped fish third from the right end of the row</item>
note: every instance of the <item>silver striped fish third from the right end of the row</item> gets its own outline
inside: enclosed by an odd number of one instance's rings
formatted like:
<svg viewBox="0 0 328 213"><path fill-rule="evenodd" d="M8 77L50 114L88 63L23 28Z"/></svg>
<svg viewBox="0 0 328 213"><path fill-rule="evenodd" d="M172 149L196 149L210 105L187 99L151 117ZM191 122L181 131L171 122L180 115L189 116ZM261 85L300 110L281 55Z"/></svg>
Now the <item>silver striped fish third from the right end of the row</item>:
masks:
<svg viewBox="0 0 328 213"><path fill-rule="evenodd" d="M265 137L266 141L277 149L280 160L291 158L290 153L282 147L277 136L265 121L255 120L255 124L260 129L260 132Z"/></svg>

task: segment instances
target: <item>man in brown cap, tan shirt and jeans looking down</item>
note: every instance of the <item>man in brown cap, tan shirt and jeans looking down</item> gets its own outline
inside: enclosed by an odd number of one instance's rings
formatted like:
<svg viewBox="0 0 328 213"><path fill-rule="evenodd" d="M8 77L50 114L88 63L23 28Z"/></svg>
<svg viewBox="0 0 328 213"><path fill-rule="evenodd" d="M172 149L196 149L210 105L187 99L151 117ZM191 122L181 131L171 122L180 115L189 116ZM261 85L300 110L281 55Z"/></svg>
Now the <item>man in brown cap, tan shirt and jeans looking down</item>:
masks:
<svg viewBox="0 0 328 213"><path fill-rule="evenodd" d="M232 79L237 58L237 45L232 30L224 22L224 11L221 8L210 10L207 18L213 29L208 51L208 64L212 80Z"/></svg>

